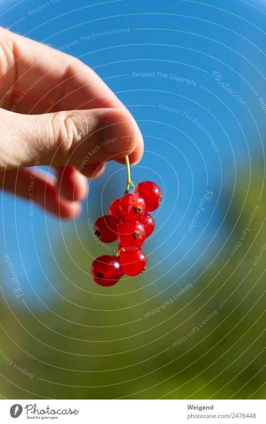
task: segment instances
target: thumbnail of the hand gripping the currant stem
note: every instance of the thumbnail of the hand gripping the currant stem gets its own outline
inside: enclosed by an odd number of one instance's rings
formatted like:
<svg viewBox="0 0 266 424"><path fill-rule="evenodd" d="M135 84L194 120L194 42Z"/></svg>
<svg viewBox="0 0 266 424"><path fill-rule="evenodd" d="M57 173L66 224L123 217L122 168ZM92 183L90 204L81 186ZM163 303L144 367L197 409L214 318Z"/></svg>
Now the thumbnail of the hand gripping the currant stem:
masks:
<svg viewBox="0 0 266 424"><path fill-rule="evenodd" d="M104 148L108 153L128 152L133 141L133 127L123 115L105 120Z"/></svg>

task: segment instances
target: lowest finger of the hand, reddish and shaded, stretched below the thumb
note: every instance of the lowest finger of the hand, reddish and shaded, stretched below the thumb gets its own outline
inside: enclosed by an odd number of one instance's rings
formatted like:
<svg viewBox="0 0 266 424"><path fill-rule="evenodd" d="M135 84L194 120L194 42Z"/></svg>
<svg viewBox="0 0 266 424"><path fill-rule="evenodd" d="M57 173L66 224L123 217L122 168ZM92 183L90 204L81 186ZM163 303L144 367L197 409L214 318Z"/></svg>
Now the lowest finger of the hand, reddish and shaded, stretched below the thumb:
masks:
<svg viewBox="0 0 266 424"><path fill-rule="evenodd" d="M0 186L29 201L29 215L33 216L34 206L62 219L74 219L81 212L80 202L70 202L57 194L55 180L51 176L32 174L30 169L13 169L0 174Z"/></svg>

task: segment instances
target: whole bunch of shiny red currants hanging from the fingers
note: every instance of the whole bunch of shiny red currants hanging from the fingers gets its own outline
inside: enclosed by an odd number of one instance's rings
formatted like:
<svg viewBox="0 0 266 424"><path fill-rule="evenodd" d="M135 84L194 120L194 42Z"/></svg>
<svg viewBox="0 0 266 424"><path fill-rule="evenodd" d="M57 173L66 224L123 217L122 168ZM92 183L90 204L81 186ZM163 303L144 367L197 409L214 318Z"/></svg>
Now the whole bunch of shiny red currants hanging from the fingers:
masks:
<svg viewBox="0 0 266 424"><path fill-rule="evenodd" d="M131 181L129 184L133 185ZM92 264L92 277L100 286L113 286L124 274L134 277L145 270L146 257L140 248L154 230L154 219L148 212L159 206L161 189L151 181L143 181L133 193L127 191L111 203L109 215L98 218L94 226L102 242L118 240L114 256L100 256Z"/></svg>

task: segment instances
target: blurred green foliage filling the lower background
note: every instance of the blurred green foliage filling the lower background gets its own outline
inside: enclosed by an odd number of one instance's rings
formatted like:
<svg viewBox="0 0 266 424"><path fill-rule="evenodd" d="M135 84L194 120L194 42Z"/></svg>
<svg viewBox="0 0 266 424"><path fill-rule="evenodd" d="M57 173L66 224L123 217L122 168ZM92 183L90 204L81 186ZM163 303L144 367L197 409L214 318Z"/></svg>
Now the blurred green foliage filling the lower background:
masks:
<svg viewBox="0 0 266 424"><path fill-rule="evenodd" d="M50 310L19 312L1 302L1 350L34 375L26 377L2 359L1 394L13 399L264 399L265 259L256 266L253 262L265 244L265 200L245 242L230 255L254 205L266 198L265 188L261 190L258 172L228 248L202 275L196 268L181 295L182 287L171 286L167 275L163 293L154 292L147 274L110 292L90 285L92 295L87 276L73 269L58 243L58 265L71 283L63 277L54 281L60 298L49 304ZM230 227L244 191L244 186L237 189ZM81 231L87 231L86 225ZM81 249L76 232L65 241L81 268L88 265L86 250L103 253L93 241ZM175 295L174 303L161 307ZM214 311L218 313L199 328ZM199 331L189 337L196 327Z"/></svg>

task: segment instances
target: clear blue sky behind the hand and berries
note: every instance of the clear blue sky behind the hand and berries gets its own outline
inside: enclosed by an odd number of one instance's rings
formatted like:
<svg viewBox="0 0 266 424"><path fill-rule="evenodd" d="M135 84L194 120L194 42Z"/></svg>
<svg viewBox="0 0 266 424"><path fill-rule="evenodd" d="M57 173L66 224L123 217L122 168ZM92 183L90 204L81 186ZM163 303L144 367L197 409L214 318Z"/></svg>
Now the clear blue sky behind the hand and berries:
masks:
<svg viewBox="0 0 266 424"><path fill-rule="evenodd" d="M241 171L249 174L263 159L264 13L265 2L241 0L0 3L1 25L79 57L133 113L145 142L133 180L154 180L164 193L157 231L146 243L158 284L174 267L170 278L185 273L177 283L183 286L199 262L205 267L212 261L230 231L223 219L234 184ZM124 178L123 166L109 163L90 184L83 213L72 223L37 208L29 217L26 201L4 194L0 250L6 295L5 251L29 302L35 298L30 284L49 296L43 270L54 265L50 249L58 249L62 235L75 226L84 229L88 215L96 219L102 199L107 212L122 194ZM211 200L205 199L189 233L206 190Z"/></svg>

